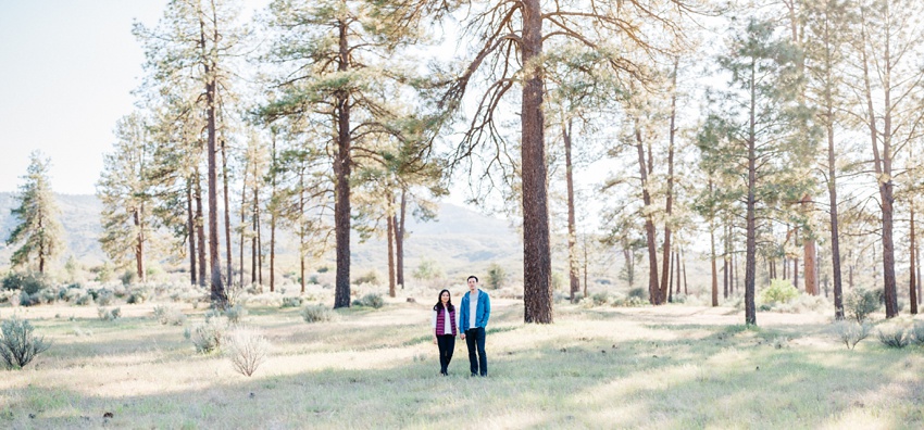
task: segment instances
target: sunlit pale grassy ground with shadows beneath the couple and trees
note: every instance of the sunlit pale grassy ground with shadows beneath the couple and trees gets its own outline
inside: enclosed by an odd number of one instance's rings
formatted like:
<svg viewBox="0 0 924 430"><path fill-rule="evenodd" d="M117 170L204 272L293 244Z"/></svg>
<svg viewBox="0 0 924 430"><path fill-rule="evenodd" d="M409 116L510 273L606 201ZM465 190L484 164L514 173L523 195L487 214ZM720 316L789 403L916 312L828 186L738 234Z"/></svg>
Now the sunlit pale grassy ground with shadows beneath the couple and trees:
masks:
<svg viewBox="0 0 924 430"><path fill-rule="evenodd" d="M249 308L242 324L272 344L252 377L197 354L184 327L151 316L158 303L122 304L112 321L92 306L3 307L52 346L0 370L0 428L924 428L924 347L872 334L848 350L828 315L761 312L748 329L732 307L563 303L553 325L524 325L521 302L496 299L489 376L470 378L464 341L439 376L432 304L417 302L316 324ZM186 328L203 320L171 305Z"/></svg>

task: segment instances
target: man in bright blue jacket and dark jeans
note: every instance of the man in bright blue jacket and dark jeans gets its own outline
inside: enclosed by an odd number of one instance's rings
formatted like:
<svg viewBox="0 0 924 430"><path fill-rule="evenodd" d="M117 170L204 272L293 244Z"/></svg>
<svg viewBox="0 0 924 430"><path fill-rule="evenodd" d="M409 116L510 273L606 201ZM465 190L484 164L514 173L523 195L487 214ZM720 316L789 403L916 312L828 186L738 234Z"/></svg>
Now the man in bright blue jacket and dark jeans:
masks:
<svg viewBox="0 0 924 430"><path fill-rule="evenodd" d="M459 309L459 329L462 330L462 340L469 345L469 365L472 376L486 377L488 376L488 358L485 354L485 328L488 327L488 318L491 317L491 298L478 289L478 277L470 276L467 282L469 292L462 296L462 306ZM477 356L475 356L476 346Z"/></svg>

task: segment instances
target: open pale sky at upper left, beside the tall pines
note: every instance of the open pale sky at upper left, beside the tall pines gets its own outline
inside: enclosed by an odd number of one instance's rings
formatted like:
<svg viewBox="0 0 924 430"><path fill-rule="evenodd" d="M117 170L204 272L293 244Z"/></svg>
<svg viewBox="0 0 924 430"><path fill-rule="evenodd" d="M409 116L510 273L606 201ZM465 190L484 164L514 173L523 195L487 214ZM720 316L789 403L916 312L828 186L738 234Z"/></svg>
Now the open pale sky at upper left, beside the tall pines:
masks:
<svg viewBox="0 0 924 430"><path fill-rule="evenodd" d="M58 192L92 193L116 119L133 110L145 60L133 20L166 0L0 0L0 191L28 154L51 157Z"/></svg>

